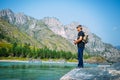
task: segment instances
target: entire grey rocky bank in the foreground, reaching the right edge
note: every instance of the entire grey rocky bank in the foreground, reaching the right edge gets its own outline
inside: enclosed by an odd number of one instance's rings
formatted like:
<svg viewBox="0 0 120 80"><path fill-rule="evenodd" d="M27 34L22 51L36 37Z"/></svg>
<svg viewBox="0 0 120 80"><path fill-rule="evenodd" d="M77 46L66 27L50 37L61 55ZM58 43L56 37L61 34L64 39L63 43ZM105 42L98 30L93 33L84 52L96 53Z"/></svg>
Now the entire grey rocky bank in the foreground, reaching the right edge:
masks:
<svg viewBox="0 0 120 80"><path fill-rule="evenodd" d="M120 62L96 68L76 68L60 80L120 80Z"/></svg>

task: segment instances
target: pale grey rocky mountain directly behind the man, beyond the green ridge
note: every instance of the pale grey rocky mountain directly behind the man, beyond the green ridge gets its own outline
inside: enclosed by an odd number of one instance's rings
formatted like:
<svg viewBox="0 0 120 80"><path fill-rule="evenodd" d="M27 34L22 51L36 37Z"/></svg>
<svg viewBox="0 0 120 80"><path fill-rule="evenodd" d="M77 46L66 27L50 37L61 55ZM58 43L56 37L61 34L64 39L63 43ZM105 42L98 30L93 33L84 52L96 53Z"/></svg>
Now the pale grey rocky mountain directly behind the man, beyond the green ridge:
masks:
<svg viewBox="0 0 120 80"><path fill-rule="evenodd" d="M63 25L61 22L53 17L43 19L43 22L56 34L68 39L71 43L76 39L76 26L78 22L72 22L68 25ZM102 42L101 38L90 32L90 30L83 26L85 34L89 35L89 43L86 44L86 52L90 55L105 57L108 61L120 61L120 51L112 45Z"/></svg>

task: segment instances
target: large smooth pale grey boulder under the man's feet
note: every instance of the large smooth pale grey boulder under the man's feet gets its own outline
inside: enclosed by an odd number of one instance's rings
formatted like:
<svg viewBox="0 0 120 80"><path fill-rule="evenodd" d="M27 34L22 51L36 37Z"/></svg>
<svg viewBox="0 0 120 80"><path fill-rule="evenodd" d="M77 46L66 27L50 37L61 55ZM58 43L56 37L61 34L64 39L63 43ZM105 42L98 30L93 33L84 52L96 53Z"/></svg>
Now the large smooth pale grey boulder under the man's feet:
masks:
<svg viewBox="0 0 120 80"><path fill-rule="evenodd" d="M101 69L73 69L60 80L109 80L110 74Z"/></svg>

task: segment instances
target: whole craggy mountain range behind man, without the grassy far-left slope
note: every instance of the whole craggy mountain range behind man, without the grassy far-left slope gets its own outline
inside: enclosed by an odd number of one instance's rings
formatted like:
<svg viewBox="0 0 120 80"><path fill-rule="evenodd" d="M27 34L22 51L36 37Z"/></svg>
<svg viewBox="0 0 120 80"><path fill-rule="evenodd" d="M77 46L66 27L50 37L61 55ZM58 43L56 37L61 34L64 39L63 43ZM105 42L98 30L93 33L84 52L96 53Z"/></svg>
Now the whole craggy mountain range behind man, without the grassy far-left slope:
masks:
<svg viewBox="0 0 120 80"><path fill-rule="evenodd" d="M29 36L33 40L33 44L36 42L36 45L40 47L47 46L50 49L71 52L77 50L76 46L73 45L73 40L76 39L78 22L64 25L55 17L45 17L37 20L23 13L15 14L10 9L0 11L0 17L7 24L15 26L14 28ZM87 27L83 26L83 31L89 35L89 43L86 44L85 48L86 53L93 56L102 56L109 62L120 61L120 51L118 49L102 42L101 38L92 33Z"/></svg>

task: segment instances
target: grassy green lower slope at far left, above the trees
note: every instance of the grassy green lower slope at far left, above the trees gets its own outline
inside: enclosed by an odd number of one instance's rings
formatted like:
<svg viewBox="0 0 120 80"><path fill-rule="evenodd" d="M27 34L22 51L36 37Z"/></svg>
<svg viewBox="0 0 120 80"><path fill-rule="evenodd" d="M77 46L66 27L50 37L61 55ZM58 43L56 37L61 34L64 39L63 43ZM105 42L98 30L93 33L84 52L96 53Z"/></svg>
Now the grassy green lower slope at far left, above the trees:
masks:
<svg viewBox="0 0 120 80"><path fill-rule="evenodd" d="M11 43L17 41L18 43L31 43L32 45L38 44L35 39L20 32L16 26L2 19L0 19L0 41Z"/></svg>

